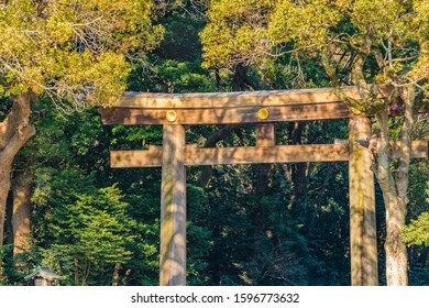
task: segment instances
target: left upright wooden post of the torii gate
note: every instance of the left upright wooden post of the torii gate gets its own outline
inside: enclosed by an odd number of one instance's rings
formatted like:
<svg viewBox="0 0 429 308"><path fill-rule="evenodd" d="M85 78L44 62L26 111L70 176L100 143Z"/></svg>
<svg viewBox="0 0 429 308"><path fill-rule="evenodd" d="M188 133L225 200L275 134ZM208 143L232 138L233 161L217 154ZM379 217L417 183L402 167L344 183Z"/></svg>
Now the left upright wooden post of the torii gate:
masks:
<svg viewBox="0 0 429 308"><path fill-rule="evenodd" d="M161 187L160 285L186 284L185 129L164 125Z"/></svg>

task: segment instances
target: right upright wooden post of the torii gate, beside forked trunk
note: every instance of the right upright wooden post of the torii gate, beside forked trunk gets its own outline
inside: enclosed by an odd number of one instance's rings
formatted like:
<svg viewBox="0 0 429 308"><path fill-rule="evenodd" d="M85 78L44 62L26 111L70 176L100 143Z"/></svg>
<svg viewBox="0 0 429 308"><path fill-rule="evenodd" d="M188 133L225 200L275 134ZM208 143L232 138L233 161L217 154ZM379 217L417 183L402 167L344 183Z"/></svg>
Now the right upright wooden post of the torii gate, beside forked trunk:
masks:
<svg viewBox="0 0 429 308"><path fill-rule="evenodd" d="M378 285L374 174L371 151L356 143L371 138L370 119L349 121L350 255L353 286Z"/></svg>

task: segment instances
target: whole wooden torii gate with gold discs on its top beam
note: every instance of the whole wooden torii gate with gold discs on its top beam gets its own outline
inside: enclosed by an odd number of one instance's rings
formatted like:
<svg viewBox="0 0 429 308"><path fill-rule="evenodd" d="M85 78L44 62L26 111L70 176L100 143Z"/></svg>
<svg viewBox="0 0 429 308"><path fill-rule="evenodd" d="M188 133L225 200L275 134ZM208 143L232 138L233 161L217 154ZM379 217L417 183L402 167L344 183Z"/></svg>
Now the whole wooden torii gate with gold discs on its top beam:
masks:
<svg viewBox="0 0 429 308"><path fill-rule="evenodd" d="M356 88L343 91L360 98ZM160 285L186 284L186 166L336 161L349 162L352 285L378 284L372 154L356 143L371 138L370 119L354 117L331 88L187 95L125 92L118 106L100 108L100 112L103 124L163 125L163 146L111 152L111 167L162 166ZM344 118L349 118L345 143L275 144L274 122ZM256 146L198 148L185 144L185 124L227 123L256 123ZM411 157L428 157L428 142L414 141Z"/></svg>

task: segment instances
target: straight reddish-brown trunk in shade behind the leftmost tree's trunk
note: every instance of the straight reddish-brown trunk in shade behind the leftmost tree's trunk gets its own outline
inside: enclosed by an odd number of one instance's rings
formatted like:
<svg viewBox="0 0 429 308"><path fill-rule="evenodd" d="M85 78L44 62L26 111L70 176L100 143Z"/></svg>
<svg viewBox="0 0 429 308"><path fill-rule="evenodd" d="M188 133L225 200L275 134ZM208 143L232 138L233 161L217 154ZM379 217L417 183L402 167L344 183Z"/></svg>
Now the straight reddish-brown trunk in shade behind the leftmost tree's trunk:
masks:
<svg viewBox="0 0 429 308"><path fill-rule="evenodd" d="M13 261L16 266L24 265L20 254L29 249L31 175L26 172L15 173L12 191Z"/></svg>

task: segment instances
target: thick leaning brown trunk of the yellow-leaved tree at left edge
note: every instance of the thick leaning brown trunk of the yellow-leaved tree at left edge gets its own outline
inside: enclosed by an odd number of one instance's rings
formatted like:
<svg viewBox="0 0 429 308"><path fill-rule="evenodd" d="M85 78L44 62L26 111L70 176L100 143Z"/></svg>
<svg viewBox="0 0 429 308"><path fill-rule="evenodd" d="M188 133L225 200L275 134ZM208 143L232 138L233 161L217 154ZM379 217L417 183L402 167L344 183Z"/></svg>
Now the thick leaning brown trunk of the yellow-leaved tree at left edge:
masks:
<svg viewBox="0 0 429 308"><path fill-rule="evenodd" d="M0 246L3 245L6 204L10 189L12 163L25 144L35 134L30 122L30 92L14 98L8 117L0 123Z"/></svg>

